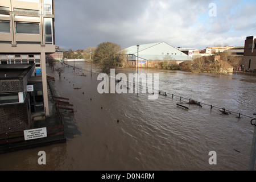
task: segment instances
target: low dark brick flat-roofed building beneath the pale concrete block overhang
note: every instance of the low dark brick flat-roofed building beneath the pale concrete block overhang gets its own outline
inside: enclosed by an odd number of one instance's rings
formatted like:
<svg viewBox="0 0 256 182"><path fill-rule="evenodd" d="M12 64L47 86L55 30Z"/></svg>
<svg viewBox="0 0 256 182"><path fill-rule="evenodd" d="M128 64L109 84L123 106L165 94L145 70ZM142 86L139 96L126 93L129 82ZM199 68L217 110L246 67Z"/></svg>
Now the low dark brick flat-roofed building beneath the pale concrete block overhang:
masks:
<svg viewBox="0 0 256 182"><path fill-rule="evenodd" d="M34 75L35 64L0 65L0 134L30 128L33 108L27 87Z"/></svg>

